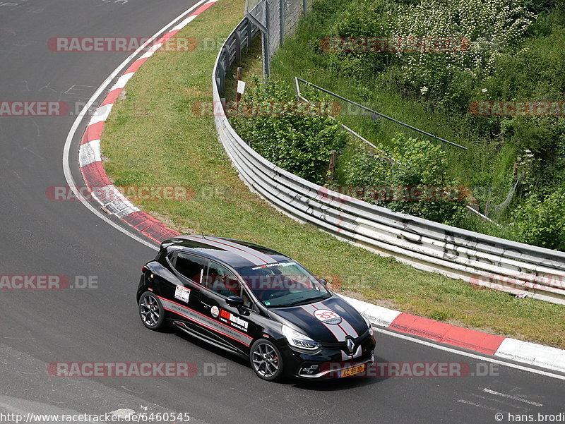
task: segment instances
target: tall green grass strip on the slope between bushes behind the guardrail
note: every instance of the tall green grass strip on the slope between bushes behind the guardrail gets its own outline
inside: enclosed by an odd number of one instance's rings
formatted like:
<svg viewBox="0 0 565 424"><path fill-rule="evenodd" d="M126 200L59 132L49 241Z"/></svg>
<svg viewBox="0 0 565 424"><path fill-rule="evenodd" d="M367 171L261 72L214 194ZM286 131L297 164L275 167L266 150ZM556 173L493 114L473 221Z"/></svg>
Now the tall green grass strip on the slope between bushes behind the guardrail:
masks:
<svg viewBox="0 0 565 424"><path fill-rule="evenodd" d="M344 11L351 7L350 4L355 3L350 0L339 2L326 0L320 2L322 6L319 8L314 7L309 17L302 21L297 35L287 37L285 44L273 58L271 77L294 87L294 79L298 76L382 114L468 147L468 151L457 147L446 147L448 175L457 178L462 185L470 188L480 204L481 212L484 212L487 201L492 205L504 201L515 181L513 166L520 153L516 145L504 143L501 137L489 139L480 135L477 131L477 119L473 119L469 114L465 115L460 111L445 108L439 109L423 97L415 99L414 95L405 91L405 88L401 89L398 86L394 67L386 72L367 71L363 74L363 78L357 74L347 76L338 73L331 55L321 51L320 40L335 36L335 28L343 19ZM534 40L534 45L537 46L535 42L540 44L544 40ZM531 81L532 78L528 80ZM433 91L434 87L430 87L430 90ZM335 100L333 97L327 98ZM505 98L501 97L501 99ZM345 107L345 103L342 104L344 107L343 112L338 116L339 121L350 126L371 143L386 145L398 131L412 137L427 138L396 123L380 120L374 122L370 116L360 116L359 109ZM357 114L351 115L350 113L354 111ZM433 139L429 138L429 140ZM513 207L518 202L519 199L513 203ZM460 226L472 231L482 228L492 236L519 241L516 231L506 226L510 218L509 213L495 216L494 219L498 220L501 226L483 225L475 222L475 219L460 222Z"/></svg>

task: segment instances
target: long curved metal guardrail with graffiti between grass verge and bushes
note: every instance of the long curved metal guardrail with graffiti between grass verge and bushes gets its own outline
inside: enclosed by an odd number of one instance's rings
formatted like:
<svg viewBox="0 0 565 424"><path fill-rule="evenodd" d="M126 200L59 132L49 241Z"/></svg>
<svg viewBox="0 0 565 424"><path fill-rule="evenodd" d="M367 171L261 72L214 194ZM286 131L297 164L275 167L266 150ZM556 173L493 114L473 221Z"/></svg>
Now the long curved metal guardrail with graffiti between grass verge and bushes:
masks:
<svg viewBox="0 0 565 424"><path fill-rule="evenodd" d="M244 18L220 49L213 71L214 102L222 101L225 75L237 46L241 53L256 34L253 26ZM239 176L280 212L418 269L565 304L565 253L392 212L328 190L258 155L226 116L215 116L215 123Z"/></svg>

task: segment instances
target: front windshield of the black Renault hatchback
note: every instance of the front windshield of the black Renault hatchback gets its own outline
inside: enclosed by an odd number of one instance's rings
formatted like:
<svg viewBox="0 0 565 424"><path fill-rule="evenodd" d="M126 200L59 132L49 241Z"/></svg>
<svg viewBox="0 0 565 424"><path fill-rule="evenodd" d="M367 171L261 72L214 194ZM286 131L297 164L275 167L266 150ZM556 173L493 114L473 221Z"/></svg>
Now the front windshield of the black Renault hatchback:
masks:
<svg viewBox="0 0 565 424"><path fill-rule="evenodd" d="M239 274L268 308L306 305L331 296L314 275L290 260L242 268Z"/></svg>

